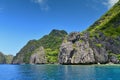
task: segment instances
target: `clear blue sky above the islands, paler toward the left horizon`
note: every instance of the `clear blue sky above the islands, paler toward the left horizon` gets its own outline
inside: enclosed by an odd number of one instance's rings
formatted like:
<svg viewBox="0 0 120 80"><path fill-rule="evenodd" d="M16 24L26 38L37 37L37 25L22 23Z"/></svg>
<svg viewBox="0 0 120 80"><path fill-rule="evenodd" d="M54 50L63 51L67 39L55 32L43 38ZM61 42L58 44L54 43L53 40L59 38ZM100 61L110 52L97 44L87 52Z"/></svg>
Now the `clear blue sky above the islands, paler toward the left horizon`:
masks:
<svg viewBox="0 0 120 80"><path fill-rule="evenodd" d="M0 0L0 51L16 55L52 29L81 32L118 0Z"/></svg>

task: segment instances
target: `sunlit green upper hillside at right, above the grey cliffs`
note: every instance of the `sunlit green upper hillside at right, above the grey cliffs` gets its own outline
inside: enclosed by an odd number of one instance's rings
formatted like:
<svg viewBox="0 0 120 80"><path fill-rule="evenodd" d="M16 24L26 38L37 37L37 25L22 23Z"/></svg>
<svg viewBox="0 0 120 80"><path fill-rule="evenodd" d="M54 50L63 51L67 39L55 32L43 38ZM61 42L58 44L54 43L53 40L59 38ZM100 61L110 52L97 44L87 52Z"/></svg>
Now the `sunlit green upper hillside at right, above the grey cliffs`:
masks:
<svg viewBox="0 0 120 80"><path fill-rule="evenodd" d="M120 1L105 15L96 21L87 31L90 37L102 32L107 37L116 38L120 36Z"/></svg>

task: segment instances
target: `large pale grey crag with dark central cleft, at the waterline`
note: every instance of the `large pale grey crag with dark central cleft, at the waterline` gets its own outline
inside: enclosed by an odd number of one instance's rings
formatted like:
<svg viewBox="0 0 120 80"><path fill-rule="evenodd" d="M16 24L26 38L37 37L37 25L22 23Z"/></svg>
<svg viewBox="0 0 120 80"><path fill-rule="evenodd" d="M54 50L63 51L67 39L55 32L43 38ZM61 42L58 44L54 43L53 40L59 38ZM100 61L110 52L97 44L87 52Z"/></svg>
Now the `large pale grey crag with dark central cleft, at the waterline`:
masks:
<svg viewBox="0 0 120 80"><path fill-rule="evenodd" d="M88 41L88 34L85 33L80 36L80 33L71 33L68 36L68 41L61 45L58 57L61 64L95 63L93 50Z"/></svg>

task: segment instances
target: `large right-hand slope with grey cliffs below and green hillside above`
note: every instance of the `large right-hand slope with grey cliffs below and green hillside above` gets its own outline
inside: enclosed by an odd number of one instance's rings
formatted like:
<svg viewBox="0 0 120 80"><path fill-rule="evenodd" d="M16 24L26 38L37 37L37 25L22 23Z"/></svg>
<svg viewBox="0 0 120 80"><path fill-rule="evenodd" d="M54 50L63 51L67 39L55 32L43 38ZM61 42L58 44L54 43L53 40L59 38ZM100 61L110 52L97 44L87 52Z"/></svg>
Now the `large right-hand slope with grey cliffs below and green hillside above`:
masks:
<svg viewBox="0 0 120 80"><path fill-rule="evenodd" d="M120 0L82 33L65 38L59 53L61 64L120 63Z"/></svg>

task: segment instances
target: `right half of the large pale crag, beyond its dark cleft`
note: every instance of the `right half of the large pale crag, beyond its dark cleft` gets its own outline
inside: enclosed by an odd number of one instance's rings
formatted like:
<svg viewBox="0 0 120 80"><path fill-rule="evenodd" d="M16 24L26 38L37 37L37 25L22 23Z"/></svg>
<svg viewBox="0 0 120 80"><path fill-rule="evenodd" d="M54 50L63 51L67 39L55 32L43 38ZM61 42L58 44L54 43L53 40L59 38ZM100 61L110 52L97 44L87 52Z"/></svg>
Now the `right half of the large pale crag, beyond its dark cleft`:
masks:
<svg viewBox="0 0 120 80"><path fill-rule="evenodd" d="M93 50L89 45L88 41L75 43L75 53L72 57L71 63L75 64L89 64L95 63Z"/></svg>

